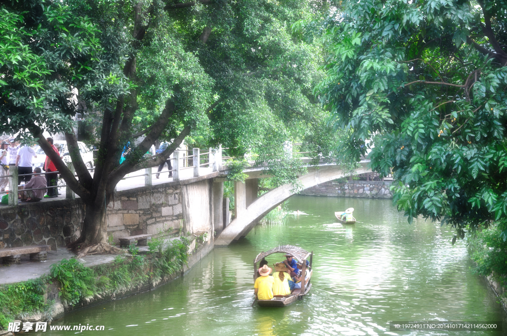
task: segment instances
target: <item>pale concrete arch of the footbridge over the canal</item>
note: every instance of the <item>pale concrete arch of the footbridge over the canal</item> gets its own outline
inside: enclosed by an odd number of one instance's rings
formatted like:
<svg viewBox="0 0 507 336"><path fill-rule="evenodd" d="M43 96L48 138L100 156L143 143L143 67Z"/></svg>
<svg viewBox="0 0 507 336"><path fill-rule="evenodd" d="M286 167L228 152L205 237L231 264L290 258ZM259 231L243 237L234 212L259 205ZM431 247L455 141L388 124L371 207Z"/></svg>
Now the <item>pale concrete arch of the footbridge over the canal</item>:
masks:
<svg viewBox="0 0 507 336"><path fill-rule="evenodd" d="M367 167L370 160L361 160L360 167L356 170L357 174L370 173L371 169ZM336 165L320 165L318 167L308 167L308 174L300 176L299 182L303 189L345 177L344 170ZM277 207L287 198L296 194L292 184L285 184L275 188L249 204L244 211L241 211L225 229L215 238L216 246L229 245L233 240L238 240L246 235L255 226L258 220L266 216L272 209Z"/></svg>

